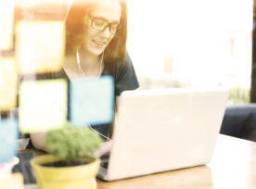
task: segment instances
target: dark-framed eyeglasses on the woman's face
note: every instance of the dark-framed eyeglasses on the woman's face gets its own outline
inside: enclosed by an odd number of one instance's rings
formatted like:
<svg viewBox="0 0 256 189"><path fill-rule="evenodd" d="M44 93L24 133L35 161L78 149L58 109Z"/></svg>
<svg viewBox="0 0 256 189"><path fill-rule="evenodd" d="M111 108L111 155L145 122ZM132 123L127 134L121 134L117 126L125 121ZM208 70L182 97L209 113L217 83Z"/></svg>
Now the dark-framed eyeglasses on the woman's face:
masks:
<svg viewBox="0 0 256 189"><path fill-rule="evenodd" d="M96 17L89 17L92 20L91 27L97 31L105 31L109 27L111 34L116 34L118 31L119 23L109 23L107 19L101 19Z"/></svg>

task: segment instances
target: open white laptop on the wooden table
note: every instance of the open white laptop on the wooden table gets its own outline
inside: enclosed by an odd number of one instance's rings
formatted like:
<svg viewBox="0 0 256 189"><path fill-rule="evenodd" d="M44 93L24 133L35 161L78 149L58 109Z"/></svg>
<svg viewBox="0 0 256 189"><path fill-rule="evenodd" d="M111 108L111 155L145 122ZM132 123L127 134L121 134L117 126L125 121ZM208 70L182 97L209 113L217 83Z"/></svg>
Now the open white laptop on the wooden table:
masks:
<svg viewBox="0 0 256 189"><path fill-rule="evenodd" d="M97 177L114 181L209 163L228 94L220 87L123 92Z"/></svg>

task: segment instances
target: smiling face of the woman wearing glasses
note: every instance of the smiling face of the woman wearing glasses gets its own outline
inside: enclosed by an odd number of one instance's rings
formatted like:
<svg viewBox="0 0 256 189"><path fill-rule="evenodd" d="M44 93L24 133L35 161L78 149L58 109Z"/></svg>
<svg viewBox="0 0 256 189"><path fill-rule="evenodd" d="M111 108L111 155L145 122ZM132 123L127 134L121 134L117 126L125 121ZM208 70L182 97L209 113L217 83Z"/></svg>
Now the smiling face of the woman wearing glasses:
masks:
<svg viewBox="0 0 256 189"><path fill-rule="evenodd" d="M113 23L115 25L115 23L120 22L121 14L121 6L117 0L97 1L96 8L92 9L89 16L85 18L85 22L88 24L85 25L83 48L87 53L95 56L101 55L115 35L109 31L109 27L103 31L93 28L93 19L99 18L99 22L96 24L101 24L100 19L104 19L110 24Z"/></svg>

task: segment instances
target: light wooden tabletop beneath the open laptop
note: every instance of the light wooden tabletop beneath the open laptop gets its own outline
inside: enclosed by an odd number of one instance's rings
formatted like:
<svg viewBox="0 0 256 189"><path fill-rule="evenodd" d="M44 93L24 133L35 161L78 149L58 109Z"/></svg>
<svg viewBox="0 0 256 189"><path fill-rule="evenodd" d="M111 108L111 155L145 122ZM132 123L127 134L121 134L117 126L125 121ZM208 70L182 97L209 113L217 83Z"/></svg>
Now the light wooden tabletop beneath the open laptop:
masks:
<svg viewBox="0 0 256 189"><path fill-rule="evenodd" d="M98 189L256 188L256 143L219 134L211 163L117 182L97 180Z"/></svg>

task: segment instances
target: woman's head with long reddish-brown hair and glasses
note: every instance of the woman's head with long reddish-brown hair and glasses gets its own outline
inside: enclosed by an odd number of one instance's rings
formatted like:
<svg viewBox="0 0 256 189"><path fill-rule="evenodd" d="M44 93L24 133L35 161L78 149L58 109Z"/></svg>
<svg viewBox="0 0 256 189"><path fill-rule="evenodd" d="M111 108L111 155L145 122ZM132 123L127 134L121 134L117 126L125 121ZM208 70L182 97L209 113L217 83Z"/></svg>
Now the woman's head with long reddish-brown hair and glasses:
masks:
<svg viewBox="0 0 256 189"><path fill-rule="evenodd" d="M83 72L90 72L92 65L97 70L103 56L105 64L125 60L127 15L124 1L74 1L66 28L67 55L79 55ZM97 73L95 71L95 75Z"/></svg>

